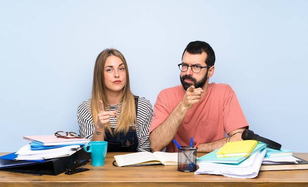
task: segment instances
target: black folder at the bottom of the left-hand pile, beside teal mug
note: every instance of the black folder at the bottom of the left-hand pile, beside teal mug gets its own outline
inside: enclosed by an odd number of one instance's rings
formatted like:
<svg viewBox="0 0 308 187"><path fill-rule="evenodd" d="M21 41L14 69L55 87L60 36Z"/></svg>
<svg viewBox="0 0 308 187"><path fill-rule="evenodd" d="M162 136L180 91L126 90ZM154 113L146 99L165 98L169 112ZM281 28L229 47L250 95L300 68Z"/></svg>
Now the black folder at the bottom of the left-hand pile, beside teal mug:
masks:
<svg viewBox="0 0 308 187"><path fill-rule="evenodd" d="M32 175L58 175L84 165L90 159L90 153L82 148L71 156L44 161L0 159L0 170Z"/></svg>

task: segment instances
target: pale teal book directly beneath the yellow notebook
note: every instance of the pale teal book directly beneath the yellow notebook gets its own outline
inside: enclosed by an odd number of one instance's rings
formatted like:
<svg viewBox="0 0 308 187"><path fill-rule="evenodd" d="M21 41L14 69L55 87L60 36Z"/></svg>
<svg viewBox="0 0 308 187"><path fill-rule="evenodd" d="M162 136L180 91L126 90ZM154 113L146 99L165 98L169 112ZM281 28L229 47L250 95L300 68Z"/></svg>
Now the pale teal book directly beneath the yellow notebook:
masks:
<svg viewBox="0 0 308 187"><path fill-rule="evenodd" d="M250 155L264 149L267 146L267 144L260 142L255 146L255 148L252 150ZM217 158L216 157L216 152L219 149L216 149L215 151L208 153L206 155L203 155L202 157L197 158L197 162L213 162L213 163L240 163L243 160L246 160L248 157L246 156L239 156L239 157L222 157L222 158Z"/></svg>

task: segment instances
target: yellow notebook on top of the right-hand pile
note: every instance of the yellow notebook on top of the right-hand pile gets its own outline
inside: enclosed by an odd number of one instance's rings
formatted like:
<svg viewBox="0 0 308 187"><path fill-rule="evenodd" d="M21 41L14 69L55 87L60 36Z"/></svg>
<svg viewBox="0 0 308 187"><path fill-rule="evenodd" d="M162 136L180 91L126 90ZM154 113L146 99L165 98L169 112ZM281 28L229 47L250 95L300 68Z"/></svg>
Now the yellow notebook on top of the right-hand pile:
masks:
<svg viewBox="0 0 308 187"><path fill-rule="evenodd" d="M217 152L216 157L238 157L246 156L248 157L254 147L258 144L257 140L243 140L243 141L231 141L227 142L222 146Z"/></svg>

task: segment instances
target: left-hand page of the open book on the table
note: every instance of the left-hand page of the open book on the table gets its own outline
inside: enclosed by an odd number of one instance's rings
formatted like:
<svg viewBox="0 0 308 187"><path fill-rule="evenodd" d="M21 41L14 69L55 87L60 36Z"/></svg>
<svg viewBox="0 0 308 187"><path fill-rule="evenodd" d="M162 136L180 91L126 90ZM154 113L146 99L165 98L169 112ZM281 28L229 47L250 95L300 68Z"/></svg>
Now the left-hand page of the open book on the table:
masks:
<svg viewBox="0 0 308 187"><path fill-rule="evenodd" d="M120 167L125 165L140 164L149 161L154 161L154 163L160 162L152 153L146 151L129 153L125 155L116 155L114 156L114 158Z"/></svg>

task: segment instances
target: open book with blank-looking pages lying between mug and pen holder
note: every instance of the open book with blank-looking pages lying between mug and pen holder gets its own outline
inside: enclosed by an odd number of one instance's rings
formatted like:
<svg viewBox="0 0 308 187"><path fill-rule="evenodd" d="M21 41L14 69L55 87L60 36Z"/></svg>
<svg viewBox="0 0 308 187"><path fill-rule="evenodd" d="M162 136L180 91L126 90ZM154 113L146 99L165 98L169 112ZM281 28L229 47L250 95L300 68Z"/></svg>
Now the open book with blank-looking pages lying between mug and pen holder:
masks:
<svg viewBox="0 0 308 187"><path fill-rule="evenodd" d="M162 151L151 152L137 152L128 153L125 155L114 156L117 165L122 166L140 166L140 165L177 165L178 153L166 153Z"/></svg>

